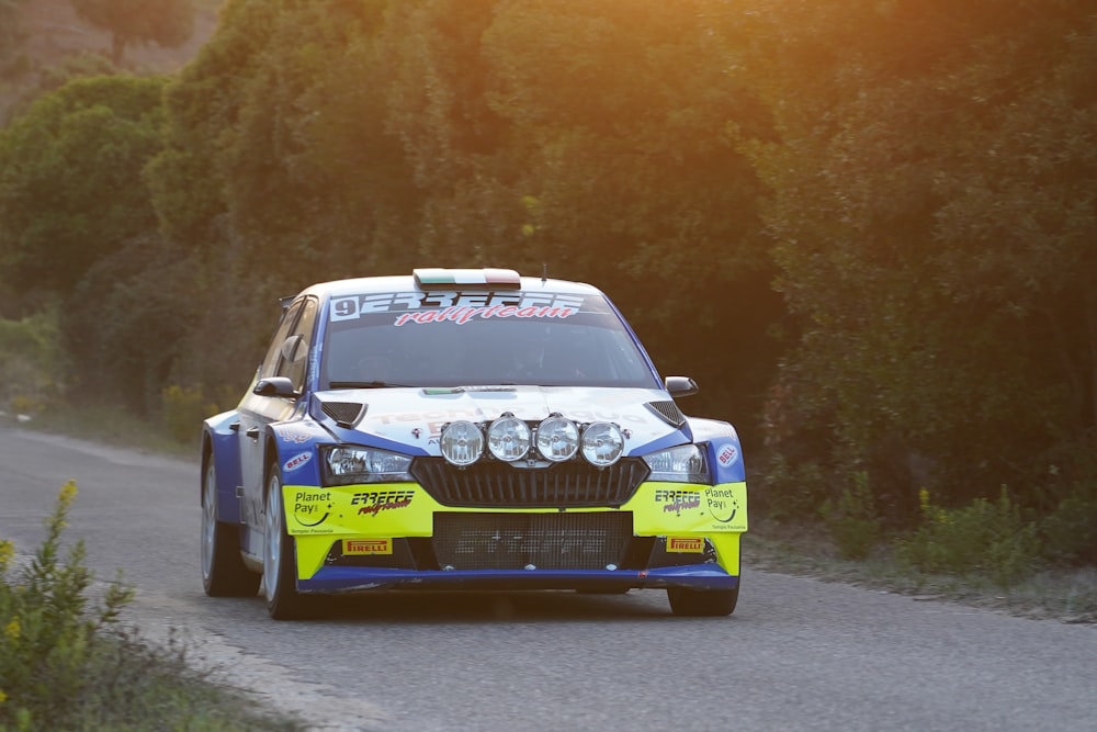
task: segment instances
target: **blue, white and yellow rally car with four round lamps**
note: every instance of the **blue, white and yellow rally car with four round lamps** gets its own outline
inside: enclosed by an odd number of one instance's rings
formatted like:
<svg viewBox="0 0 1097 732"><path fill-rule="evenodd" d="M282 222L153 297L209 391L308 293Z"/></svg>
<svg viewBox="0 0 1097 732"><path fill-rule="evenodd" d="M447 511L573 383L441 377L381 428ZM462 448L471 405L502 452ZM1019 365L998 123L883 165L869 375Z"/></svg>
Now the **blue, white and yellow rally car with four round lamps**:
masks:
<svg viewBox="0 0 1097 732"><path fill-rule="evenodd" d="M598 289L513 270L313 285L202 431L202 578L299 618L382 589L665 588L724 616L739 439Z"/></svg>

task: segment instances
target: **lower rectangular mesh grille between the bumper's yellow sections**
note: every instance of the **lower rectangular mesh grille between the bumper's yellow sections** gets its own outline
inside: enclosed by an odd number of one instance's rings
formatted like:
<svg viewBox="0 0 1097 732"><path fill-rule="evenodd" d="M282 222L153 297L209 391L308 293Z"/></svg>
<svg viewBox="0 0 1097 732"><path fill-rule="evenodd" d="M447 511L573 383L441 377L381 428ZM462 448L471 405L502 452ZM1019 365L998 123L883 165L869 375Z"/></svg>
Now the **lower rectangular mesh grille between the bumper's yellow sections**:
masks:
<svg viewBox="0 0 1097 732"><path fill-rule="evenodd" d="M454 570L604 570L620 565L632 513L434 514L434 555Z"/></svg>

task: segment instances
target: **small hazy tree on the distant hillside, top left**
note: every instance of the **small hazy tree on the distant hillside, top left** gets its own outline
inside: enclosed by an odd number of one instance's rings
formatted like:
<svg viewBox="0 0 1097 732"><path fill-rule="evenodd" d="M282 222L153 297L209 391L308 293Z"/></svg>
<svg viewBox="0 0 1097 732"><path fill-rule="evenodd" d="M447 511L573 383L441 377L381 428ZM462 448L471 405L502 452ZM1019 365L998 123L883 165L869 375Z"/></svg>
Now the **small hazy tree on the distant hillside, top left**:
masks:
<svg viewBox="0 0 1097 732"><path fill-rule="evenodd" d="M192 0L69 0L76 14L111 34L111 59L122 64L126 47L156 44L178 48L194 31Z"/></svg>

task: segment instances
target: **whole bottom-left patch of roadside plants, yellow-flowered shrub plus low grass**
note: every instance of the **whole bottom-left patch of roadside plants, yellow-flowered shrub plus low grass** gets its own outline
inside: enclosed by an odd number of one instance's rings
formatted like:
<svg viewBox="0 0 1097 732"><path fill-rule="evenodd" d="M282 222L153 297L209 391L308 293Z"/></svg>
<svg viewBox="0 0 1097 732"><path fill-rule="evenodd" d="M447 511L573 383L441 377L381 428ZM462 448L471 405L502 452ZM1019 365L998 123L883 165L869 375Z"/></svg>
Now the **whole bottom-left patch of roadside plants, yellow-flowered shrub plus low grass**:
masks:
<svg viewBox="0 0 1097 732"><path fill-rule="evenodd" d="M150 645L117 622L134 596L121 579L89 607L82 542L59 556L76 493L71 482L61 488L46 539L22 570L0 541L0 731L303 730L194 669L174 631L167 645Z"/></svg>

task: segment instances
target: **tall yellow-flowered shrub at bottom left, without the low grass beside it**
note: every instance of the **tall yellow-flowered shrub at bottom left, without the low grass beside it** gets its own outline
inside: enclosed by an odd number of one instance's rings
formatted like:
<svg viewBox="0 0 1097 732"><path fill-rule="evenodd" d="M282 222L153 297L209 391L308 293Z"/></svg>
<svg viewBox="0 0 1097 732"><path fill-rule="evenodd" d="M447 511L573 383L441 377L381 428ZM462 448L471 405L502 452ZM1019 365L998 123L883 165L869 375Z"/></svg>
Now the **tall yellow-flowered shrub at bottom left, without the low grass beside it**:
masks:
<svg viewBox="0 0 1097 732"><path fill-rule="evenodd" d="M75 729L81 700L100 683L88 673L104 653L98 633L133 599L134 590L117 579L90 608L86 592L94 577L84 566L83 542L61 559L61 531L76 494L72 482L61 488L46 539L14 584L8 577L13 548L0 542L2 729Z"/></svg>

